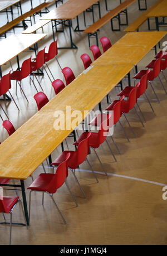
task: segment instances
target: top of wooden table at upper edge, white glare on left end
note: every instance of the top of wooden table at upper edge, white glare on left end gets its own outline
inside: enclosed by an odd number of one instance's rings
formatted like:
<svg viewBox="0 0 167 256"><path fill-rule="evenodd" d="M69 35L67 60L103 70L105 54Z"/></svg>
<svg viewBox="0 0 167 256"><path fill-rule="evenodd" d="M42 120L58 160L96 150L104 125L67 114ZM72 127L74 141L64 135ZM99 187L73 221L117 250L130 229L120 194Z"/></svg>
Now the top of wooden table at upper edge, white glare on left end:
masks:
<svg viewBox="0 0 167 256"><path fill-rule="evenodd" d="M99 0L68 0L66 3L61 4L61 6L42 16L40 20L72 20L96 2L99 2Z"/></svg>

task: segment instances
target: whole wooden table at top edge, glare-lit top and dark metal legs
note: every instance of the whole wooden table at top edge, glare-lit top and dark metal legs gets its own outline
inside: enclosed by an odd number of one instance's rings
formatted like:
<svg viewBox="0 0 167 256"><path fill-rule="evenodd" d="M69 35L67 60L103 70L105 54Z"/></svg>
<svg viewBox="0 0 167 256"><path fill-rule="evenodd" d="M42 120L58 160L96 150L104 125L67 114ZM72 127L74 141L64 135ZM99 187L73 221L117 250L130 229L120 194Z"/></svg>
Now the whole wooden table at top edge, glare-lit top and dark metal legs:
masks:
<svg viewBox="0 0 167 256"><path fill-rule="evenodd" d="M92 6L92 12L94 11L93 6L94 4L98 3L99 6L99 16L100 16L100 2L99 0L68 0L66 3L63 3L61 6L53 9L51 12L48 12L45 16L42 16L40 20L51 20L57 22L53 25L52 22L52 29L56 27L58 24L65 24L69 27L70 32L70 42L71 47L58 47L59 49L77 49L77 46L72 41L72 33L71 33L71 20L73 18L77 18L77 26L74 31L83 31L80 30L79 22L78 22L78 15L84 12L86 9L89 9ZM58 20L61 20L58 21ZM93 16L94 20L94 16ZM68 23L68 25L67 25ZM55 40L54 30L53 30L53 39Z"/></svg>

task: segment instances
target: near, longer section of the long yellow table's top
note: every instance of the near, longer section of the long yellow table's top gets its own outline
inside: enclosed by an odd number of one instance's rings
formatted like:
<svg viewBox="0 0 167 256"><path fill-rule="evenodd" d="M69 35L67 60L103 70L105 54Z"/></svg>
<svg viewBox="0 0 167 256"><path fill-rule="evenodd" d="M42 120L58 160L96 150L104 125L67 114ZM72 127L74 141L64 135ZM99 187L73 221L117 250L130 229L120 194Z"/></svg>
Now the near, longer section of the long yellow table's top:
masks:
<svg viewBox="0 0 167 256"><path fill-rule="evenodd" d="M71 110L81 110L80 123L84 119L84 111L88 114L94 109L131 69L132 65L95 66L78 76L1 144L0 177L18 180L29 177L73 131L54 129L55 110L63 110L65 116L66 106Z"/></svg>

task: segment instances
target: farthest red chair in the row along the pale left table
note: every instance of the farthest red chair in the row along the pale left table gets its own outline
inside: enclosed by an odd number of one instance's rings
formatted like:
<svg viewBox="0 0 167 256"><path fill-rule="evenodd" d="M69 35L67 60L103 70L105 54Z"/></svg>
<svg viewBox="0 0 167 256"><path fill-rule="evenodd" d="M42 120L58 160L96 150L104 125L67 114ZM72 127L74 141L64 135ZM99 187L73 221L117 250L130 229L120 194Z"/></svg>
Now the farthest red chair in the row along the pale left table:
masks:
<svg viewBox="0 0 167 256"><path fill-rule="evenodd" d="M57 63L58 63L58 66L60 66L60 63L58 62L57 60L57 54L58 54L58 49L57 49L57 40L56 41L53 41L51 44L50 44L50 47L48 49L48 52L45 52L45 64L48 68L48 70L50 71L48 65L46 62L48 62L49 60L52 60L53 58L56 59ZM60 66L60 69L62 69L62 67ZM51 73L51 71L50 71ZM52 73L51 73L52 75ZM53 80L55 80L55 78L53 77L52 75L52 78Z"/></svg>

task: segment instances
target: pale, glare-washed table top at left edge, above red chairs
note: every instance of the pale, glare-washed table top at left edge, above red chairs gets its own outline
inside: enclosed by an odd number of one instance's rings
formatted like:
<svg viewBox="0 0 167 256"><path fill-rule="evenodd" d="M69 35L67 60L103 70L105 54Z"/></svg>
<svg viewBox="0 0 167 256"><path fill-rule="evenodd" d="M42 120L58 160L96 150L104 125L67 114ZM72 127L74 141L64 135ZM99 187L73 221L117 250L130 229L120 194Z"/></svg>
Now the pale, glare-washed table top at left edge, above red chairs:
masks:
<svg viewBox="0 0 167 256"><path fill-rule="evenodd" d="M42 40L46 33L11 35L0 41L0 66ZM12 47L11 47L12 46Z"/></svg>

